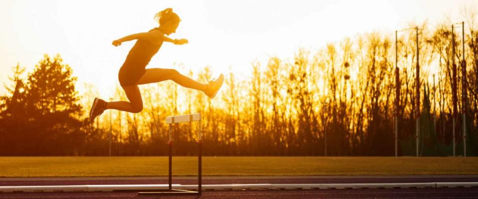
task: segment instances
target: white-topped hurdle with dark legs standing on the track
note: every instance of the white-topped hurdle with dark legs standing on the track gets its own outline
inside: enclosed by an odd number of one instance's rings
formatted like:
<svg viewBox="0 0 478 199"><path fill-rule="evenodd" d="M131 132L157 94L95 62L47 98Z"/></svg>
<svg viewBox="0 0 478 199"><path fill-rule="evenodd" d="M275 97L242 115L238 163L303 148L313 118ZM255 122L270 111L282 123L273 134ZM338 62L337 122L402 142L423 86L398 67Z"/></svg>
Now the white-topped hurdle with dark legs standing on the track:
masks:
<svg viewBox="0 0 478 199"><path fill-rule="evenodd" d="M198 133L198 189L197 191L189 191L189 190L180 190L180 189L173 189L172 187L172 158L173 158L173 140L172 140L172 125L175 123L182 123L182 122L199 122L199 133ZM201 195L202 191L202 139L201 139L201 113L192 113L186 115L177 115L177 116L168 116L166 117L166 123L169 124L169 141L167 142L169 150L169 177L168 177L168 189L157 190L155 192L138 192L137 195L145 196L145 195Z"/></svg>

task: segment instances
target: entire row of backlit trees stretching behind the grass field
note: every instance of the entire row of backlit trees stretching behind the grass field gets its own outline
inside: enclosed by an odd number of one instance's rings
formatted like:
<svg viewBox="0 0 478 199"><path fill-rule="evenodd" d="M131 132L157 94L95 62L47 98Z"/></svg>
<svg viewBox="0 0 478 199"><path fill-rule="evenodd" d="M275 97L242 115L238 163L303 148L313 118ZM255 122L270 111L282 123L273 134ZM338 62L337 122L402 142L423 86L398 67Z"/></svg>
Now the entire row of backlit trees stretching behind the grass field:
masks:
<svg viewBox="0 0 478 199"><path fill-rule="evenodd" d="M413 31L401 32L396 46L394 34L369 32L299 49L292 59L252 62L245 77L227 74L213 100L171 81L140 86L142 112L108 110L95 123L87 120L99 96L95 86L86 84L78 94L71 68L60 55L45 55L26 77L13 67L0 103L0 155L108 155L110 132L112 155L166 155L165 117L192 112L203 115L204 155L393 156L395 120L398 155L415 155L417 115L419 155L453 155L453 118L457 155L463 155L463 129L467 155L477 155L478 32L470 22L462 40L448 24L412 24L420 29L418 47ZM465 51L456 45L461 42ZM453 67L463 61L465 76ZM186 74L207 82L212 71ZM453 92L463 89L457 113ZM126 100L120 87L112 96ZM195 155L197 124L173 128L174 153Z"/></svg>

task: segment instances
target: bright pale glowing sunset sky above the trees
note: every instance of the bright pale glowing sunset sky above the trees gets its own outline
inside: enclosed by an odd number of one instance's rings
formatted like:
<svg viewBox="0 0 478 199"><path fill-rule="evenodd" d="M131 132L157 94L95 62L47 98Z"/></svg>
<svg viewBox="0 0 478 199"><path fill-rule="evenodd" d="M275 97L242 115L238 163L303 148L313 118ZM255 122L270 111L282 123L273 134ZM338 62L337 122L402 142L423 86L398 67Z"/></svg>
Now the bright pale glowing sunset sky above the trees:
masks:
<svg viewBox="0 0 478 199"><path fill-rule="evenodd" d="M244 76L254 60L293 57L300 47L319 49L327 42L374 30L390 32L410 21L435 25L461 21L463 6L474 0L1 0L0 95L10 84L11 68L27 72L43 57L60 53L83 83L113 95L118 70L134 41L113 46L113 40L145 32L158 24L156 12L172 7L182 19L172 38L189 44L165 43L148 68L197 71L210 65L214 77ZM174 67L179 63L184 68Z"/></svg>

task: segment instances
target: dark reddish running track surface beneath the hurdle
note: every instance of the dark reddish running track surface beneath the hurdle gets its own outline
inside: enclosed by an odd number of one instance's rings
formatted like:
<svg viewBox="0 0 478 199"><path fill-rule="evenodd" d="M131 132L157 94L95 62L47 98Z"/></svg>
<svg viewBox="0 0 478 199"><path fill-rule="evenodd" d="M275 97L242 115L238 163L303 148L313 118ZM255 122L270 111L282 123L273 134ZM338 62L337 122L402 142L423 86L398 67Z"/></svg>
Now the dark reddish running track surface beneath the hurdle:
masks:
<svg viewBox="0 0 478 199"><path fill-rule="evenodd" d="M478 175L440 176L226 176L203 177L203 184L325 184L478 182ZM196 184L194 177L173 177L173 184ZM167 184L167 177L0 178L0 186ZM153 199L134 192L0 193L0 199ZM198 196L164 198L205 199L316 199L316 198L477 198L478 188L247 190L203 191Z"/></svg>

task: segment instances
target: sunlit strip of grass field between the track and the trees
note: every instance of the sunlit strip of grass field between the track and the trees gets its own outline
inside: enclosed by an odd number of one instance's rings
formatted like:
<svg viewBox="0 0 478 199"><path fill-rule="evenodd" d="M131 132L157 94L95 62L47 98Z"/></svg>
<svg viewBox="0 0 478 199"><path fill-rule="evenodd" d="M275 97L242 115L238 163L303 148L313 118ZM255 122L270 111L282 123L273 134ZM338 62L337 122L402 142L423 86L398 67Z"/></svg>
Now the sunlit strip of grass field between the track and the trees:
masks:
<svg viewBox="0 0 478 199"><path fill-rule="evenodd" d="M167 157L0 157L0 177L167 176ZM478 174L478 157L203 157L204 176ZM197 157L173 157L196 176Z"/></svg>

